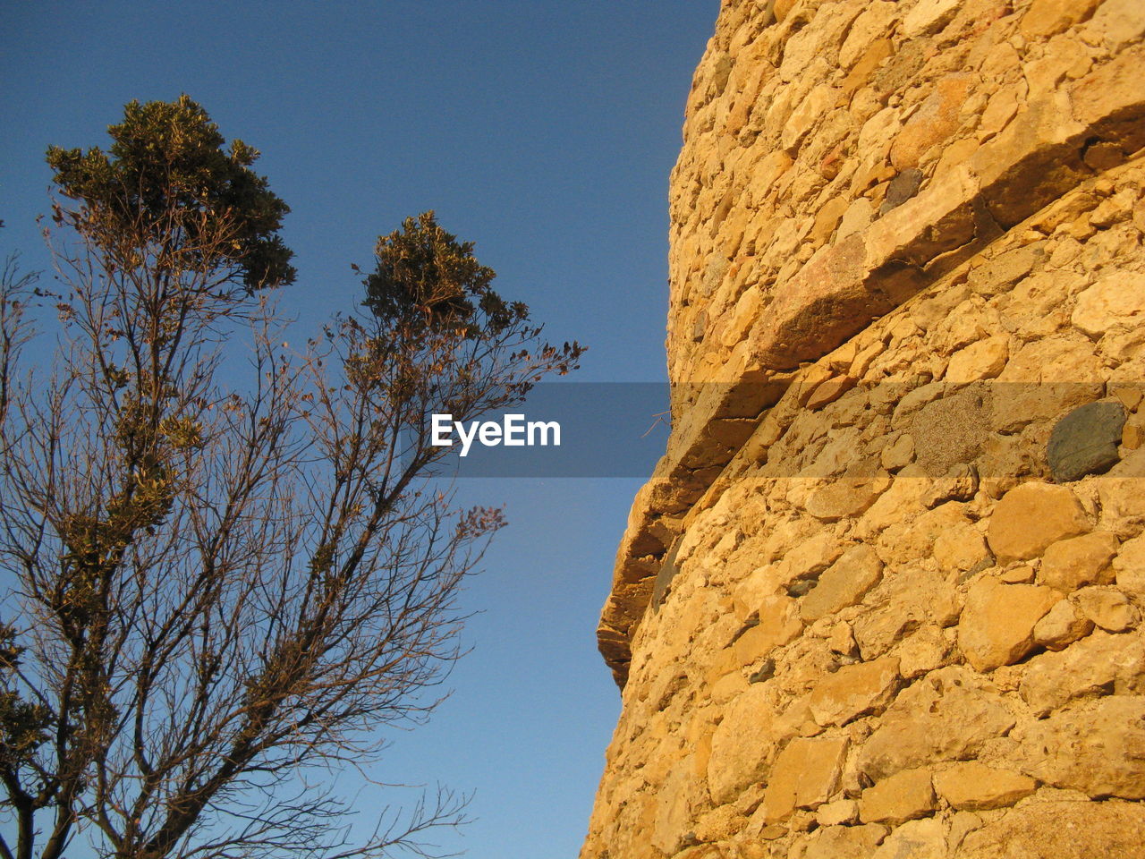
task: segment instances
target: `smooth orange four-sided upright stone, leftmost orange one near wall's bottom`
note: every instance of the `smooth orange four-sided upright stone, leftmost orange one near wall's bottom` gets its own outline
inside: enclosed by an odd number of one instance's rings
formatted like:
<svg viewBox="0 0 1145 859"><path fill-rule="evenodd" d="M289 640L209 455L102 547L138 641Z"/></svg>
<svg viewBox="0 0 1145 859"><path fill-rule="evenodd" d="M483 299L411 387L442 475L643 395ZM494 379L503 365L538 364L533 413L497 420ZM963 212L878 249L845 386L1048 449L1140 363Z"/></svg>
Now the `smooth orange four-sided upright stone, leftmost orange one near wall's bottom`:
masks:
<svg viewBox="0 0 1145 859"><path fill-rule="evenodd" d="M847 738L797 738L780 752L767 780L760 806L768 823L788 818L796 809L814 809L835 793Z"/></svg>

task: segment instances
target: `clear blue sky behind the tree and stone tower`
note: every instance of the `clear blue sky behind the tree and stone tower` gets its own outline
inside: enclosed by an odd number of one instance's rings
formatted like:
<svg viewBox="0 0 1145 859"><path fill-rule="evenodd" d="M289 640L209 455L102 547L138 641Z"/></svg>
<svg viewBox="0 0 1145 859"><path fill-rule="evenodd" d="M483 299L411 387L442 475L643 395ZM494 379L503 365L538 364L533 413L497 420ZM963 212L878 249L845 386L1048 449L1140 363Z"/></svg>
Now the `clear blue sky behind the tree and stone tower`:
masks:
<svg viewBox="0 0 1145 859"><path fill-rule="evenodd" d="M0 251L46 258L44 150L105 144L132 98L185 92L262 151L292 207L302 323L360 300L350 262L427 208L590 347L593 381L664 378L668 173L717 0L14 2L0 5ZM466 607L473 652L378 779L475 791L444 846L574 857L618 695L595 623L633 479L465 480L511 526ZM354 789L347 778L348 790ZM358 796L369 817L387 794ZM401 795L395 795L401 798Z"/></svg>

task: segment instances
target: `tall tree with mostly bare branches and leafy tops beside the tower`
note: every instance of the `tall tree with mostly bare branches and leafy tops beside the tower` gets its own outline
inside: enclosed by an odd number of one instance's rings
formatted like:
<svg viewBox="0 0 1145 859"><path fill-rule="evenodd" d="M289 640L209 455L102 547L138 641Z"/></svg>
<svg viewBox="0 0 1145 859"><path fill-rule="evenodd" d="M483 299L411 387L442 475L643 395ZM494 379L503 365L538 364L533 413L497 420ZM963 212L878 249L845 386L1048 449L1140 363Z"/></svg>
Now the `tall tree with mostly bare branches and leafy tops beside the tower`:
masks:
<svg viewBox="0 0 1145 859"><path fill-rule="evenodd" d="M258 152L187 96L109 131L109 152L48 152L74 239L50 378L17 371L29 284L0 295L0 857L421 852L455 795L350 844L308 774L373 759L459 656L458 589L503 520L453 509L428 416L519 403L582 347L540 342L429 212L291 353Z"/></svg>

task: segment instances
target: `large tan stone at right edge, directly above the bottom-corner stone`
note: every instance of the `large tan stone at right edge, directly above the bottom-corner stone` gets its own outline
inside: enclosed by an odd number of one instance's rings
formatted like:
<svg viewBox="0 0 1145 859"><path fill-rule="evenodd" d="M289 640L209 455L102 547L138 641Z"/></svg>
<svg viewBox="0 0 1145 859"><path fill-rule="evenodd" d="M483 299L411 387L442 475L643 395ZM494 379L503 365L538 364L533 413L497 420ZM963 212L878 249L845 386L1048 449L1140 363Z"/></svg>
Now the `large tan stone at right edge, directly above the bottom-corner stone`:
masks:
<svg viewBox="0 0 1145 859"><path fill-rule="evenodd" d="M1145 798L1145 698L1114 695L1053 714L1021 738L1022 770L1091 797Z"/></svg>

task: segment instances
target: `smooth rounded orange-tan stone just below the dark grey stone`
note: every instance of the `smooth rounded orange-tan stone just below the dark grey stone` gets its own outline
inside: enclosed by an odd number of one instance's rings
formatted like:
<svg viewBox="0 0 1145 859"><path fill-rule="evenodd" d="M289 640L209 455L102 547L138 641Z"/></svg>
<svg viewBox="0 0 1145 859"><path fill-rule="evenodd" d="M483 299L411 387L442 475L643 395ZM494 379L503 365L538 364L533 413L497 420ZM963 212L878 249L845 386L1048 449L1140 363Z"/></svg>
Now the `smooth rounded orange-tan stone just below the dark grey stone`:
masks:
<svg viewBox="0 0 1145 859"><path fill-rule="evenodd" d="M1059 539L1090 529L1076 496L1066 487L1021 483L998 502L987 539L1000 561L1037 558Z"/></svg>

